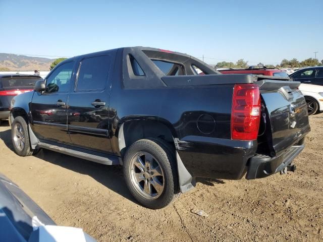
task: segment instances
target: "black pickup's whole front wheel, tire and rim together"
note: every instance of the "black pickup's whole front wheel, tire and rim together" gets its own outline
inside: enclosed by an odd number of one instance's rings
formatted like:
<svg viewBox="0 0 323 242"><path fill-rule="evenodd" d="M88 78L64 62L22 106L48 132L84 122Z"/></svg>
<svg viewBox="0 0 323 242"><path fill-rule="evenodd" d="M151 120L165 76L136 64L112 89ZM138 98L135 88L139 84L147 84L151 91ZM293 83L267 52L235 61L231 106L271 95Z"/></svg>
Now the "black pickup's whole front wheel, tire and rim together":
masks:
<svg viewBox="0 0 323 242"><path fill-rule="evenodd" d="M11 139L15 152L20 156L33 154L30 147L29 132L26 120L22 116L17 116L12 123Z"/></svg>

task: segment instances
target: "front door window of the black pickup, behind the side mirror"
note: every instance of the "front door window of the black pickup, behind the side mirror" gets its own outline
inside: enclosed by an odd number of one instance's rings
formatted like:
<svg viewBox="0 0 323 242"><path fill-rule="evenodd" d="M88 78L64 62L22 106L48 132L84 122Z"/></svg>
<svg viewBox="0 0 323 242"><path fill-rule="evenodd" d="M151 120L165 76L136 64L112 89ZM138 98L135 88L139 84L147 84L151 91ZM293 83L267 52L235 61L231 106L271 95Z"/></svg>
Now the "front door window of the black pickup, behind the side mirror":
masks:
<svg viewBox="0 0 323 242"><path fill-rule="evenodd" d="M45 92L68 92L74 62L68 62L58 67L46 80Z"/></svg>

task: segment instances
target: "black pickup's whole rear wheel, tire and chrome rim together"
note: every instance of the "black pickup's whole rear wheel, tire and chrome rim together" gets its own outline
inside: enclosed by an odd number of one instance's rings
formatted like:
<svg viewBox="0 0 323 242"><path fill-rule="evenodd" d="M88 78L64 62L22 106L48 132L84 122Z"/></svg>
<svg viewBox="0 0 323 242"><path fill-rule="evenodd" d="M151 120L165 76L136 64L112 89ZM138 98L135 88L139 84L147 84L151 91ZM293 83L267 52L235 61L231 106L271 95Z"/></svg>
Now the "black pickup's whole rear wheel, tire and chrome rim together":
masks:
<svg viewBox="0 0 323 242"><path fill-rule="evenodd" d="M133 143L125 154L123 171L131 194L147 208L164 208L180 195L175 148L164 140Z"/></svg>

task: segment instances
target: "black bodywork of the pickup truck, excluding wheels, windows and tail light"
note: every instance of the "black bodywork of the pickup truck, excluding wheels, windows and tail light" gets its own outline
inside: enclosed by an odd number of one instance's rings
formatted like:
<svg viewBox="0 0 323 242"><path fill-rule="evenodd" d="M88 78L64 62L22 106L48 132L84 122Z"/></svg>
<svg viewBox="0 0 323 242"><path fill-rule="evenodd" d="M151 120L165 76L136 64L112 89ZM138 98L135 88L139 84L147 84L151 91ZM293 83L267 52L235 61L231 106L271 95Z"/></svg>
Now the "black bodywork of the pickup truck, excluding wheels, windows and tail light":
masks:
<svg viewBox="0 0 323 242"><path fill-rule="evenodd" d="M113 55L114 59L105 88L100 92L80 94L75 90L80 62L98 55ZM130 61L132 57L144 75L135 75ZM155 60L182 66L185 75L167 76L153 63ZM149 136L162 137L175 145L181 162L192 177L240 179L248 169L259 166L252 157L264 155L265 162L283 157L283 153L297 145L310 131L306 103L297 90L299 83L288 79L250 74L222 75L192 56L145 47L73 57L53 71L71 61L75 65L66 105L57 107L56 95L50 94L52 98L48 100L52 105L48 109L52 109L52 113L63 107L62 117L52 115L52 119L44 112L41 114L39 108L30 104L31 93L15 97L11 118L15 117L15 110L24 110L29 118L30 132L38 139L122 157L132 142ZM193 66L206 75L194 75ZM250 83L259 85L262 113L265 114L260 129L264 132L259 130L257 140L232 140L234 86ZM34 92L35 96L44 94ZM93 108L90 103L96 99L104 101L104 105ZM70 100L73 103L69 103ZM35 120L35 117L43 119ZM50 130L58 132L50 137L42 135ZM275 160L284 162L286 157ZM264 171L259 172L250 171L248 178L262 177Z"/></svg>

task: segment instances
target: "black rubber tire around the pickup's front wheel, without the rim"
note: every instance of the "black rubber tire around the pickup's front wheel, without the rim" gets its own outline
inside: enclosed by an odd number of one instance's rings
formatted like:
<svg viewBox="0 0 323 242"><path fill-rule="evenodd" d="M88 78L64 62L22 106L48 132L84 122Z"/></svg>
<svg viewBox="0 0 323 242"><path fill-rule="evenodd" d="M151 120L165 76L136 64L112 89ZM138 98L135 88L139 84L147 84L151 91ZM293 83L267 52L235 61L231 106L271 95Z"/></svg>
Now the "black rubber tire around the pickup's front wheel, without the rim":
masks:
<svg viewBox="0 0 323 242"><path fill-rule="evenodd" d="M16 125L20 125L21 133L24 136L25 142L24 142L23 149L19 148L15 142L15 131L14 130L15 130ZM12 140L16 154L18 154L20 156L29 156L29 155L33 154L33 150L31 149L31 146L30 146L28 126L27 126L26 120L22 116L17 116L14 119L14 122L12 123L11 140Z"/></svg>

